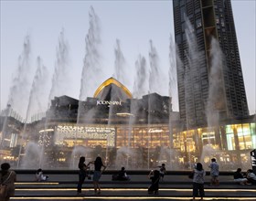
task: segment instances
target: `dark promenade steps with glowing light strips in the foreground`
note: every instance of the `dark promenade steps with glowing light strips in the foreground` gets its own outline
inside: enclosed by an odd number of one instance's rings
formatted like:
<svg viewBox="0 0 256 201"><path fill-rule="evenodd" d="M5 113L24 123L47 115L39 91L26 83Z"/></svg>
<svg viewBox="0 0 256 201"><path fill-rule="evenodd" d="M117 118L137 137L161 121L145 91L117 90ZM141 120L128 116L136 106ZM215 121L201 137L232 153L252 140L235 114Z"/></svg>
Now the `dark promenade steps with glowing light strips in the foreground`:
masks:
<svg viewBox="0 0 256 201"><path fill-rule="evenodd" d="M35 182L34 174L17 174L16 196L11 200L190 200L192 180L187 175L165 175L160 182L159 195L148 195L150 180L147 175L130 175L129 182L113 182L112 175L101 176L101 195L94 196L91 180L83 185L82 195L77 196L78 175L51 174L48 182ZM206 176L205 200L256 201L256 185L237 185L231 175L220 175L219 186L209 186ZM199 199L199 198L198 198Z"/></svg>

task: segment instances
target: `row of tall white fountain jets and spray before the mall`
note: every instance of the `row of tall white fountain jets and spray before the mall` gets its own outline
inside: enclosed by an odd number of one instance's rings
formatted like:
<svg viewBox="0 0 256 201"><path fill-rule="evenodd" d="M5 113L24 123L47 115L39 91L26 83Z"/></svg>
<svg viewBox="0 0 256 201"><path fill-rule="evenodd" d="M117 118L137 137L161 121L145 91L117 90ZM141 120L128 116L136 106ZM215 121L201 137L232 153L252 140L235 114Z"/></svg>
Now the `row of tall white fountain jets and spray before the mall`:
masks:
<svg viewBox="0 0 256 201"><path fill-rule="evenodd" d="M199 73L199 60L202 52L197 49L197 42L193 33L192 26L187 20L187 64L181 60L175 59L176 46L170 39L170 67L168 71L169 83L165 84L165 73L161 70L160 58L154 46L153 40L149 41L149 62L147 69L146 58L138 55L135 61L136 74L133 83L133 98L121 100L122 107L108 105L101 107L102 111L108 113L102 114L101 109L91 107L97 103L99 97L92 98L91 90L97 89L103 79L103 68L101 65L101 27L99 17L95 14L94 9L90 10L90 27L85 39L85 57L83 59L83 68L80 79L80 97L79 100L72 100L69 104L59 103L56 97L65 96L69 86L69 45L64 37L64 30L60 32L59 44L57 48L57 58L55 70L48 95L44 90L44 82L47 79L47 72L42 64L42 59L37 58L37 71L33 80L30 94L24 96L22 90L27 89L29 83L25 73L26 68L30 66L30 44L29 37L26 38L22 57L19 58L19 68L17 70L20 77L14 80L14 86L10 90L8 103L14 109L20 108L17 100L20 97L29 97L25 111L26 121L23 122L22 129L16 134L18 140L16 145L20 145L17 168L59 168L76 169L80 156L85 156L86 161L94 160L98 155L109 164L109 168L120 169L125 166L126 169L149 169L156 165L165 163L169 170L187 169L186 163L194 163L195 160L208 164L211 157L222 157L223 150L212 145L211 137L216 133L216 127L219 128L218 113L213 113L215 104L219 97L215 97L215 90L221 90L219 86L219 63L221 55L216 40L212 39L211 52L211 70L209 77L209 94L208 94L208 113L214 115L208 116L208 130L194 129L191 122L191 112L188 101L193 101L191 87L187 80L197 79ZM172 37L170 37L172 38ZM114 77L126 84L125 80L125 57L120 46L120 40L116 40L115 71ZM219 54L217 54L218 52ZM172 112L173 101L170 98L176 96L176 67L186 65L184 73L185 94L186 94L186 112L187 112L187 131L179 128L177 119ZM22 76L25 76L24 78ZM164 79L163 79L164 78ZM189 81L190 82L190 81ZM24 86L25 89L20 89ZM164 87L163 87L164 86ZM104 88L106 86L103 86ZM119 99L121 87L112 87L110 97L101 96L102 100L109 102ZM169 88L169 97L160 96L165 88ZM19 91L20 90L20 91ZM198 89L200 90L200 89ZM18 93L17 93L18 92ZM47 106L44 106L41 99L47 97ZM160 98L159 98L160 97ZM56 100L61 100L60 98ZM66 99L65 97L63 98ZM66 99L69 100L68 98ZM164 100L167 100L164 102ZM87 104L88 103L88 104ZM165 104L165 107L163 106ZM225 102L223 103L225 104ZM221 108L223 104L219 105ZM95 106L95 105L94 105ZM157 107L161 108L161 113L157 113ZM63 107L61 109L61 107ZM24 108L24 107L23 107ZM89 108L89 109L88 109ZM37 122L29 122L29 117L35 112L47 111L44 119ZM62 112L62 111L63 112ZM117 115L119 110L124 110L124 116ZM10 110L9 110L10 111ZM62 113L61 113L62 112ZM72 113L73 112L73 113ZM71 114L70 118L67 116ZM73 116L72 116L73 115ZM158 115L158 116L157 116ZM160 115L160 116L159 116ZM164 119L162 116L168 118ZM7 129L8 115L5 115L5 121L2 129L1 149L3 146L5 133ZM157 117L157 118L156 118ZM14 125L16 122L14 123ZM178 124L178 125L177 125ZM212 129L212 128L215 129ZM11 135L10 133L8 133ZM120 136L118 136L120 134ZM123 134L123 135L122 135ZM205 135L206 134L206 135ZM220 133L219 133L220 134ZM39 136L39 137L38 137ZM85 137L86 136L86 137ZM100 137L99 137L100 136ZM206 136L207 143L204 143ZM201 137L201 138L200 138ZM124 138L124 140L123 140ZM120 143L123 140L122 143ZM10 140L11 141L11 140ZM97 143L98 141L98 143ZM28 143L27 143L28 142ZM95 143L96 142L96 143ZM169 142L166 144L166 142ZM182 144L183 143L183 144ZM194 147L201 147L201 154L194 157L192 150ZM54 155L51 160L50 154ZM188 157L187 157L187 155ZM184 158L188 161L182 161ZM48 162L46 161L51 160ZM193 161L194 160L194 161ZM58 163L58 164L54 164ZM38 166L39 165L39 166ZM220 166L225 166L220 164ZM225 166L225 168L227 168Z"/></svg>

